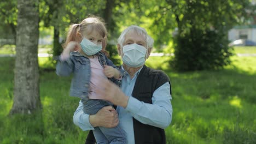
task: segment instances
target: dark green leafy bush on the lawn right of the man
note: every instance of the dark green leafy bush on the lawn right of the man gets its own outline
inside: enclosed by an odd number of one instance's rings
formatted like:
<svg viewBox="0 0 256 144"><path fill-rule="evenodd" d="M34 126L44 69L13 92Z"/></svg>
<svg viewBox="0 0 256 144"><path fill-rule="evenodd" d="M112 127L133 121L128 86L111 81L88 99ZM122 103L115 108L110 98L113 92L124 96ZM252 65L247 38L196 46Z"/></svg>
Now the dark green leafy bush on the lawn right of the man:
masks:
<svg viewBox="0 0 256 144"><path fill-rule="evenodd" d="M171 65L178 71L210 70L231 63L231 48L225 32L191 28L174 40Z"/></svg>

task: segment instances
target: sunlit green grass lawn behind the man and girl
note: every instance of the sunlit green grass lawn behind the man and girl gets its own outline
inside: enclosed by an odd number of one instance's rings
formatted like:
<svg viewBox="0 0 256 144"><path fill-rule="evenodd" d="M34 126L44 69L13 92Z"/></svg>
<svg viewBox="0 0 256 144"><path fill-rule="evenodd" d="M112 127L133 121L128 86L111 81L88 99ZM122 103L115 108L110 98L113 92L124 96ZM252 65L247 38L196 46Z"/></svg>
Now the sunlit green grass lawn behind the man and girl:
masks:
<svg viewBox="0 0 256 144"><path fill-rule="evenodd" d="M167 143L256 143L256 57L231 57L222 70L177 73L170 57L146 65L164 69L172 86L172 123ZM0 58L0 143L83 143L87 132L73 122L79 99L69 97L71 77L56 76L39 58L43 110L7 116L13 104L14 57Z"/></svg>

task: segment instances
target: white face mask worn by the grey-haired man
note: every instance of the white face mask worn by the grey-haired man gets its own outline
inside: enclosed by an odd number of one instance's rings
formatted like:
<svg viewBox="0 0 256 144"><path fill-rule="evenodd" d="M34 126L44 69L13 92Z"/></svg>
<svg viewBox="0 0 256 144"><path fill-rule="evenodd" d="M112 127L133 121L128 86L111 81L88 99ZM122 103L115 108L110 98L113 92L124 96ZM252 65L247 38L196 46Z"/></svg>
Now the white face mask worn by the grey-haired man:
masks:
<svg viewBox="0 0 256 144"><path fill-rule="evenodd" d="M138 68L145 63L147 49L144 46L131 44L123 47L123 63L132 68Z"/></svg>

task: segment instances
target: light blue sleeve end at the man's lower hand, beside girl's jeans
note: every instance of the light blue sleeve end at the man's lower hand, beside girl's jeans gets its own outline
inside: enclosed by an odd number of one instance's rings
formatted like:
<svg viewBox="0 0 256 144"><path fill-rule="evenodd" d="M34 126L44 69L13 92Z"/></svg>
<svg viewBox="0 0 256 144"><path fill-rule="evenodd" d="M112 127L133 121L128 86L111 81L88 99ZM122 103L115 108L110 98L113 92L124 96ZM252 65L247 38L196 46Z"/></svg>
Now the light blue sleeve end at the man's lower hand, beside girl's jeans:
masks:
<svg viewBox="0 0 256 144"><path fill-rule="evenodd" d="M80 101L77 110L74 112L73 123L77 125L83 131L94 130L94 127L90 124L88 114L83 111L83 103Z"/></svg>

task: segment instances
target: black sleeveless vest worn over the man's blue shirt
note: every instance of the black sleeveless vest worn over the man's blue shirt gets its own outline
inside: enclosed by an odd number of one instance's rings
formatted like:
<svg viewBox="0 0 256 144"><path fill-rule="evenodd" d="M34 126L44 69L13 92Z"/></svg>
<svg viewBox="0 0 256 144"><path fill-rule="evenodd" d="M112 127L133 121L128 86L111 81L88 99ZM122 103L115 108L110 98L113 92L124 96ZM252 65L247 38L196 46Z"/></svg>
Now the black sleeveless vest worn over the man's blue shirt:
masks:
<svg viewBox="0 0 256 144"><path fill-rule="evenodd" d="M152 104L152 96L154 91L166 82L170 83L170 80L165 73L163 73L161 70L154 70L144 65L135 82L132 96L140 101L143 101L144 103ZM143 124L133 118L133 130L136 144L166 143L164 129ZM85 143L95 143L94 135L91 130Z"/></svg>

